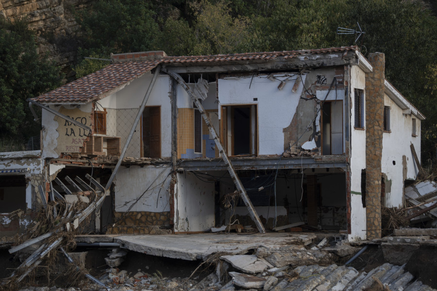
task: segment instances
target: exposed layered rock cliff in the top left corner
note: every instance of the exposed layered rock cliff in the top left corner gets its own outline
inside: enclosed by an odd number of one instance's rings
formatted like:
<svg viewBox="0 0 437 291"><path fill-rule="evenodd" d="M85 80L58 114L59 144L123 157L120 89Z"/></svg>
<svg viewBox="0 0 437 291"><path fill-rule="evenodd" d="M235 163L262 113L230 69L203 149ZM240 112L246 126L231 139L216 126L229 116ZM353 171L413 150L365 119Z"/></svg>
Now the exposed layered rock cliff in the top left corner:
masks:
<svg viewBox="0 0 437 291"><path fill-rule="evenodd" d="M27 17L29 28L36 32L38 53L61 66L66 78L79 46L76 35L79 25L73 9L86 9L92 0L0 0L0 16L11 20Z"/></svg>

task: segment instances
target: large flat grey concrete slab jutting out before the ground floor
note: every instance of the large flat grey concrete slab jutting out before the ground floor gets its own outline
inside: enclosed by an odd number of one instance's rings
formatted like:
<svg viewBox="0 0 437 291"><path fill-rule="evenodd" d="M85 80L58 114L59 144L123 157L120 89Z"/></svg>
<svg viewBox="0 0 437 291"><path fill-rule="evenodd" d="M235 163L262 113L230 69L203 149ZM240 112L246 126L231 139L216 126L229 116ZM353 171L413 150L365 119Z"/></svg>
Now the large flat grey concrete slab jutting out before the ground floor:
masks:
<svg viewBox="0 0 437 291"><path fill-rule="evenodd" d="M250 249L269 245L308 244L316 238L313 234L267 233L237 234L169 234L169 235L119 235L114 242L132 251L152 256L197 260L223 252L246 254Z"/></svg>

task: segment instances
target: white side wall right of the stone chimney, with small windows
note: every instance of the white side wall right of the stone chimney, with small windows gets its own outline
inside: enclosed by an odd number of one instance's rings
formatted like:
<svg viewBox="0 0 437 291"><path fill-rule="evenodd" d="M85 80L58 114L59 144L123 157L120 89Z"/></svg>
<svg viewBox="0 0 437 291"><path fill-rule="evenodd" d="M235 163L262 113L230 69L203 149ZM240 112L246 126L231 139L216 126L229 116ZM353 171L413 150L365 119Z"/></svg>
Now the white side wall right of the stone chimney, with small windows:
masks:
<svg viewBox="0 0 437 291"><path fill-rule="evenodd" d="M403 206L403 180L415 179L418 168L413 159L410 144L413 143L420 159L420 119L413 114L403 114L403 110L385 94L384 105L390 107L391 132L383 134L381 171L387 175L386 206ZM416 118L416 134L412 136L412 118ZM406 159L406 177L403 176L403 156ZM389 187L387 187L389 186Z"/></svg>

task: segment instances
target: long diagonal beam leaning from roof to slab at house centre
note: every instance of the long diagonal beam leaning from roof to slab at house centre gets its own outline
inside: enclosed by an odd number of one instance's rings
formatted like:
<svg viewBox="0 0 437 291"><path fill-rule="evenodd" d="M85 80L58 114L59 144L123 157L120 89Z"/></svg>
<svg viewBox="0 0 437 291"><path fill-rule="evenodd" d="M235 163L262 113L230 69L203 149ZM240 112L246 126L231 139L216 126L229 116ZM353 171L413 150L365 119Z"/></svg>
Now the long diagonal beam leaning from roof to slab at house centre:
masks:
<svg viewBox="0 0 437 291"><path fill-rule="evenodd" d="M228 158L228 155L226 154L223 146L221 145L220 140L218 139L218 135L216 130L211 124L211 121L209 120L208 115L206 114L205 110L203 109L202 104L199 102L198 97L196 97L197 92L194 93L191 91L191 89L188 87L188 85L185 83L184 79L182 77L172 72L171 70L168 70L167 68L162 68L161 71L167 73L170 75L174 80L176 80L182 88L185 89L186 93L191 97L196 107L199 109L199 112L202 114L203 120L206 123L206 126L209 129L209 132L214 138L214 142L216 143L216 146L218 148L218 152L220 153L221 157L223 158L223 161L228 166L229 175L231 175L231 178L234 180L235 186L237 190L240 192L241 199L243 199L244 204L246 204L247 209L249 210L249 215L251 216L252 220L255 222L256 227L258 228L258 231L260 233L266 233L266 229L264 228L263 224L261 223L261 220L259 219L258 214L255 211L255 208L252 205L251 200L249 199L249 196L246 193L246 189L244 189L243 184L241 183L240 178L238 178L238 175L235 172L234 166L232 165L231 161Z"/></svg>

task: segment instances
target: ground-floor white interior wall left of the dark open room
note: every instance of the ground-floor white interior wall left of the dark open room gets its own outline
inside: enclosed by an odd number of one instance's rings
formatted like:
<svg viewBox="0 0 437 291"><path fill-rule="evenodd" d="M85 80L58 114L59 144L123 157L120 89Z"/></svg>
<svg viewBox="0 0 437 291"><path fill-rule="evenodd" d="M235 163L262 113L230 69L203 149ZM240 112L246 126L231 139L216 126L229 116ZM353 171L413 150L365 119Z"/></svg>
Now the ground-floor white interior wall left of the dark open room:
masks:
<svg viewBox="0 0 437 291"><path fill-rule="evenodd" d="M207 231L215 226L214 182L204 182L190 172L177 174L174 231Z"/></svg>

